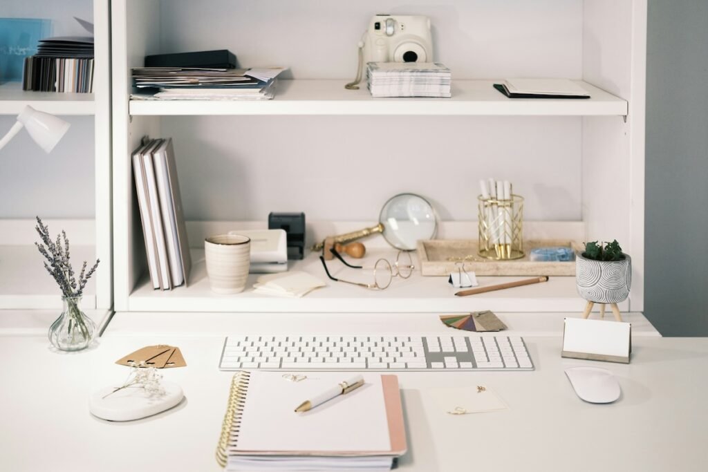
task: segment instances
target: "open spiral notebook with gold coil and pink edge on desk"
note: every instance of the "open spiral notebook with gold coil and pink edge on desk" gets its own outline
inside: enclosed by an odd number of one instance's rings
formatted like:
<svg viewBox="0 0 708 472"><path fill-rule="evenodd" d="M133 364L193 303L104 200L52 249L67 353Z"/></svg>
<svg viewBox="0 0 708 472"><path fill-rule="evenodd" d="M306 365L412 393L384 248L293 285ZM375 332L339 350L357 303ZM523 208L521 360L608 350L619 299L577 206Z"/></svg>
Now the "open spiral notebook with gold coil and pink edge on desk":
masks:
<svg viewBox="0 0 708 472"><path fill-rule="evenodd" d="M395 375L365 384L305 413L295 407L344 380L321 372L302 381L280 372L236 372L217 447L227 471L387 471L406 452Z"/></svg>

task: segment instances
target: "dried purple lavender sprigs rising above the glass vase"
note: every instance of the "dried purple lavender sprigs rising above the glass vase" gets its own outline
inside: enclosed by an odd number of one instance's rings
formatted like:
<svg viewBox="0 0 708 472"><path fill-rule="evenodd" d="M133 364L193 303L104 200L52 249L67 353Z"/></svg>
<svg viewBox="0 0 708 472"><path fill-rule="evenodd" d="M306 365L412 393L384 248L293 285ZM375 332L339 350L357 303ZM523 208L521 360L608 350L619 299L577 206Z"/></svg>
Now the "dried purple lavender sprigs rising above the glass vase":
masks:
<svg viewBox="0 0 708 472"><path fill-rule="evenodd" d="M98 263L100 263L101 260L96 259L96 264L94 264L88 272L86 272L88 263L84 260L84 265L81 267L81 274L79 274L79 280L76 280L69 255L69 238L67 238L67 234L62 231L61 234L57 234L57 240L52 241L49 235L49 227L42 223L40 217L37 217L37 226L35 226L35 229L37 229L37 233L42 239L42 243L35 242L35 246L37 246L40 254L46 259L44 265L47 272L49 272L57 282L64 297L81 297L81 295L84 294L86 282L89 282L93 272L96 272L96 267L98 267Z"/></svg>

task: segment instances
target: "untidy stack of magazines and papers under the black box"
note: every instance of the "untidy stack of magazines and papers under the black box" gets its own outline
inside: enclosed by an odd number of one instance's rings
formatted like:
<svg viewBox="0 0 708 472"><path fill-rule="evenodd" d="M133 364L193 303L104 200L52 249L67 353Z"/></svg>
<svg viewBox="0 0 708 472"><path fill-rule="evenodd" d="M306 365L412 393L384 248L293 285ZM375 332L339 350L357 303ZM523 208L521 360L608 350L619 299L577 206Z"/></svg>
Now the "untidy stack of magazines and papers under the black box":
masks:
<svg viewBox="0 0 708 472"><path fill-rule="evenodd" d="M132 69L138 100L268 100L275 78L285 70L137 67Z"/></svg>

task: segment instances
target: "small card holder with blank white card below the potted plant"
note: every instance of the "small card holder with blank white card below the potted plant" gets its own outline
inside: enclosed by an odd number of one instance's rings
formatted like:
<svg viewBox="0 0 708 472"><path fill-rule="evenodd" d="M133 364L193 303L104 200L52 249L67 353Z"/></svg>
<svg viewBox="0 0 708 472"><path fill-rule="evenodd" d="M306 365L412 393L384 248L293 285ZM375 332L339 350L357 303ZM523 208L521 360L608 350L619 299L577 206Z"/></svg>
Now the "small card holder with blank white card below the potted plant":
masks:
<svg viewBox="0 0 708 472"><path fill-rule="evenodd" d="M561 357L629 364L632 323L565 318Z"/></svg>

